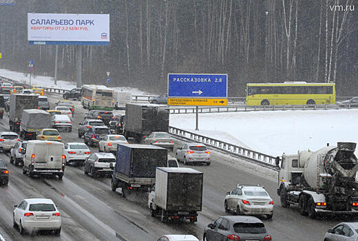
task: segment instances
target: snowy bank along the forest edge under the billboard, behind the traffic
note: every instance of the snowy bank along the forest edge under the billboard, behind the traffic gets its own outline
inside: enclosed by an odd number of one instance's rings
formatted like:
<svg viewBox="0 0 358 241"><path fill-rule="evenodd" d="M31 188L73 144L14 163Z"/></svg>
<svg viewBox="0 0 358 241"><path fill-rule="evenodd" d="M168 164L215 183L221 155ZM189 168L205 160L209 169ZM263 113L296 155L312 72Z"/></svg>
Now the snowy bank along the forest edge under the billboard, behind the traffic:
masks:
<svg viewBox="0 0 358 241"><path fill-rule="evenodd" d="M30 74L24 74L21 72L14 72L11 70L0 69L0 76L13 79L14 81L25 82L25 83L30 82ZM49 76L31 76L31 83L32 85L40 85L40 86L58 88L63 90L71 90L76 87L76 83L70 83L61 80L57 81L57 85L55 85L54 78ZM138 90L136 88L113 87L112 89L116 91L131 92L131 94L134 96L154 95L154 94L149 94L148 92L144 92L142 90Z"/></svg>

